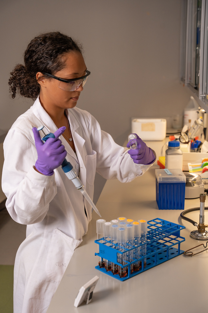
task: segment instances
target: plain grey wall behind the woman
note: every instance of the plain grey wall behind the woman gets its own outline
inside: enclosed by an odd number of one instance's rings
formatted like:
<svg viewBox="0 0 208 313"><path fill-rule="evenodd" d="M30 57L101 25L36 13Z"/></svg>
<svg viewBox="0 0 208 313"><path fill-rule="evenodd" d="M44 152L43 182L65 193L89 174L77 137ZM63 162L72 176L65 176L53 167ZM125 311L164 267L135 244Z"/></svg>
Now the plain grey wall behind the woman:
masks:
<svg viewBox="0 0 208 313"><path fill-rule="evenodd" d="M132 116L182 114L190 92L179 82L181 0L1 0L0 128L31 100L12 100L9 73L38 33L79 39L91 75L77 106L122 144Z"/></svg>

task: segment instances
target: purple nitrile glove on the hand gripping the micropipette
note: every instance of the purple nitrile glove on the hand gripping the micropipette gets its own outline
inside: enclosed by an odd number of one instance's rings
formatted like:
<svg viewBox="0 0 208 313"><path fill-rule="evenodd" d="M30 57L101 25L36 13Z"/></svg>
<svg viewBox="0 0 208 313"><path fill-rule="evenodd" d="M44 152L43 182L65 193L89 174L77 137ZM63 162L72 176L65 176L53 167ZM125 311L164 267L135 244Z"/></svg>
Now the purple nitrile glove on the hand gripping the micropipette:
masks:
<svg viewBox="0 0 208 313"><path fill-rule="evenodd" d="M66 157L65 147L58 137L63 134L66 127L62 126L55 131L55 138L48 138L45 143L41 140L39 131L33 127L32 131L35 138L35 146L37 149L37 161L35 167L38 172L46 176L53 175L53 170L59 167Z"/></svg>

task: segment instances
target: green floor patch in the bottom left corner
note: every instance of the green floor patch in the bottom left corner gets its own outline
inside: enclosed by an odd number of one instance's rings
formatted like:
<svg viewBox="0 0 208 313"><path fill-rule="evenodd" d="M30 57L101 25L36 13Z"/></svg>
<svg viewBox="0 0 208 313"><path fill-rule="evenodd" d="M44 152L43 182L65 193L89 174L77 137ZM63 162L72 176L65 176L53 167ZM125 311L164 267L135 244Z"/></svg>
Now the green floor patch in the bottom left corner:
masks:
<svg viewBox="0 0 208 313"><path fill-rule="evenodd" d="M13 313L14 265L0 265L0 313Z"/></svg>

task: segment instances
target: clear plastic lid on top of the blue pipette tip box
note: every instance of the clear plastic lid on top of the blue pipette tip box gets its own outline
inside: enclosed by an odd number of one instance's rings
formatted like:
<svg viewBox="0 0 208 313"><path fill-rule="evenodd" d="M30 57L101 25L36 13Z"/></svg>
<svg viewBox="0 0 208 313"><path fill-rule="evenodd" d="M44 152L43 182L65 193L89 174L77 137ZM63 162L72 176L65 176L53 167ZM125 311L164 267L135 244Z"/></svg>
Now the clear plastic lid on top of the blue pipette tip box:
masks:
<svg viewBox="0 0 208 313"><path fill-rule="evenodd" d="M167 174L164 169L155 170L158 182L186 182L186 176L181 169L169 169L172 174Z"/></svg>

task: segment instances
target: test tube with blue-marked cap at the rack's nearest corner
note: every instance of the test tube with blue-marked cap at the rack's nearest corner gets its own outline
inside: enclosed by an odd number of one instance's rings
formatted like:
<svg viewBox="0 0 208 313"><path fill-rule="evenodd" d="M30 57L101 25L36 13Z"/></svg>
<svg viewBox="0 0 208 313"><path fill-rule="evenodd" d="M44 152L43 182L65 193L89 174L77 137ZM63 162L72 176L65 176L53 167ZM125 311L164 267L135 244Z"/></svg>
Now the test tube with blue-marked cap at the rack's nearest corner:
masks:
<svg viewBox="0 0 208 313"><path fill-rule="evenodd" d="M126 250L126 242L127 242L126 227L125 228L124 227L119 227L117 229L118 229L117 230L118 248L119 248L119 251L124 252ZM127 259L126 253L123 253L123 254L117 253L118 263L120 263L122 265L125 265L127 263L126 259ZM119 276L120 277L125 277L126 276L126 267L124 267L122 269L122 267L119 265L118 269L119 269L119 273L118 273Z"/></svg>

